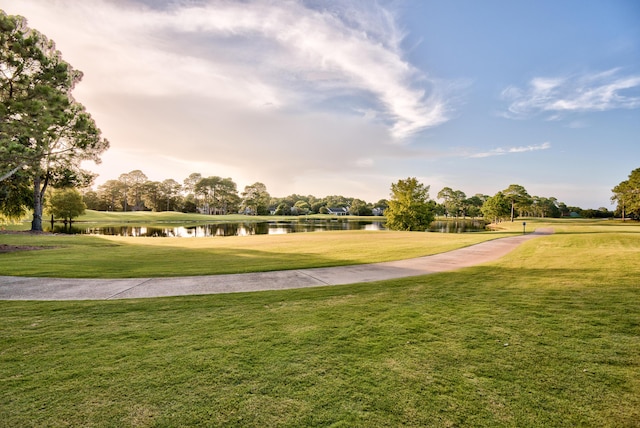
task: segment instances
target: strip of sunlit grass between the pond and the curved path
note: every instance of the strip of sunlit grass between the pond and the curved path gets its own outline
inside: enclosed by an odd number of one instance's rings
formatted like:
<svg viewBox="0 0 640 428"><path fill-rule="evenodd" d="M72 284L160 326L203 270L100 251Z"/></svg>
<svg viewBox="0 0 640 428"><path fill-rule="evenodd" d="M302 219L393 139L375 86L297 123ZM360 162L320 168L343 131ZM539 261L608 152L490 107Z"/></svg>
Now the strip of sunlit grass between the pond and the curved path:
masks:
<svg viewBox="0 0 640 428"><path fill-rule="evenodd" d="M508 234L339 231L207 238L0 234L0 244L48 248L0 254L0 272L118 278L301 269L434 254Z"/></svg>

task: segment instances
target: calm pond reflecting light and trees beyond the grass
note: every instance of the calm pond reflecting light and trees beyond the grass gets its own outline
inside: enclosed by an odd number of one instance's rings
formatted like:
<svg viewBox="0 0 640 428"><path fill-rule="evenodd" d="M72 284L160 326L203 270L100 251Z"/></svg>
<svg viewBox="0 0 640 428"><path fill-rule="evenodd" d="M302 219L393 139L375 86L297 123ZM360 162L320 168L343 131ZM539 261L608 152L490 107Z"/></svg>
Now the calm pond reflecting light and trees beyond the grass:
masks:
<svg viewBox="0 0 640 428"><path fill-rule="evenodd" d="M462 233L484 230L482 220L435 221L431 224L430 232ZM208 236L248 236L248 235L279 235L298 232L320 232L327 230L384 230L384 221L362 221L347 219L302 219L294 221L261 221L261 222L229 222L205 224L168 224L155 223L150 225L100 225L97 223L75 222L71 227L55 224L53 230L50 224L46 231L54 233L113 235L113 236L150 236L201 238Z"/></svg>

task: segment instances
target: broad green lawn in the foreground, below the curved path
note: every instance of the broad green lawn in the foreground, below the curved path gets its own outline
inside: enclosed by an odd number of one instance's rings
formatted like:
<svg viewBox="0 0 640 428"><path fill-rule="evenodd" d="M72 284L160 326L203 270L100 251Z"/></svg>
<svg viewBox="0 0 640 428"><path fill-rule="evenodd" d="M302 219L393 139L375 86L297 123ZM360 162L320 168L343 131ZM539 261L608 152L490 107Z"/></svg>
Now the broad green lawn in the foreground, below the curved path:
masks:
<svg viewBox="0 0 640 428"><path fill-rule="evenodd" d="M371 284L0 302L0 426L637 426L637 230Z"/></svg>

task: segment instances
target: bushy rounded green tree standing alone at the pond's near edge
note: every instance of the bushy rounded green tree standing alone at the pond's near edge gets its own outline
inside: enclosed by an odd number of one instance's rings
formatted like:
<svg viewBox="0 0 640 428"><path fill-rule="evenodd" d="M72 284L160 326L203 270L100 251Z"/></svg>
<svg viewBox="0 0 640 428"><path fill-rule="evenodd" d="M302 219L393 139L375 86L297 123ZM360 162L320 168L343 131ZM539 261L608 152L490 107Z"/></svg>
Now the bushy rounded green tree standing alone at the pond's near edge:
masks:
<svg viewBox="0 0 640 428"><path fill-rule="evenodd" d="M434 219L434 204L429 202L429 186L416 178L391 184L391 199L385 215L391 230L425 231Z"/></svg>

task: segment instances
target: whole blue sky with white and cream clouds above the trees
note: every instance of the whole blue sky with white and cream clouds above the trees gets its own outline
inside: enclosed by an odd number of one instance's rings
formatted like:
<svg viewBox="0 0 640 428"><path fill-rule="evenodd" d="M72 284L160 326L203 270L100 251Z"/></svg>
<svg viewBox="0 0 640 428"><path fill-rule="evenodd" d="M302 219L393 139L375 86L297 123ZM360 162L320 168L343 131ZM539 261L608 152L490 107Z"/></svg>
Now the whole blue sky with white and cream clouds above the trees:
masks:
<svg viewBox="0 0 640 428"><path fill-rule="evenodd" d="M84 77L96 185L376 202L416 177L612 209L640 167L637 0L0 0Z"/></svg>

